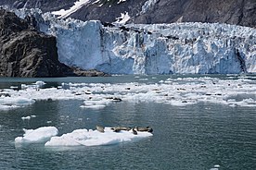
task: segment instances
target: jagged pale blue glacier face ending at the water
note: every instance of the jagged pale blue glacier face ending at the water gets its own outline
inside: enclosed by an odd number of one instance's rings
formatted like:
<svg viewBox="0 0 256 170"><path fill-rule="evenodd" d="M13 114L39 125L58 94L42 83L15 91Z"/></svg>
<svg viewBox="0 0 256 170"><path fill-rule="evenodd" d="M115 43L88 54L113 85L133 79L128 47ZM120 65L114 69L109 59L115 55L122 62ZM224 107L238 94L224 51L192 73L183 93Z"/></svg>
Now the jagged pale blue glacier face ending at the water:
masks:
<svg viewBox="0 0 256 170"><path fill-rule="evenodd" d="M35 16L57 37L60 62L110 74L227 74L256 72L256 30L218 23L102 24Z"/></svg>

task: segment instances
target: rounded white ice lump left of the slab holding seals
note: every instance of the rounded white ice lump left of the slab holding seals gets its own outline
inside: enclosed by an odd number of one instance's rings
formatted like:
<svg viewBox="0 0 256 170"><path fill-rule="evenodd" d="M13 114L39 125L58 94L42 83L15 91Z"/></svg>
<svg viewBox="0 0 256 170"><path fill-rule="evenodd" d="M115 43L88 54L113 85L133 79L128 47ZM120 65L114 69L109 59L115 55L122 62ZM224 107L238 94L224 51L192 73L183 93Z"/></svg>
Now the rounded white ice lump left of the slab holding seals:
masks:
<svg viewBox="0 0 256 170"><path fill-rule="evenodd" d="M42 127L36 129L23 129L25 134L23 137L17 137L16 143L44 143L51 137L58 135L58 128Z"/></svg>

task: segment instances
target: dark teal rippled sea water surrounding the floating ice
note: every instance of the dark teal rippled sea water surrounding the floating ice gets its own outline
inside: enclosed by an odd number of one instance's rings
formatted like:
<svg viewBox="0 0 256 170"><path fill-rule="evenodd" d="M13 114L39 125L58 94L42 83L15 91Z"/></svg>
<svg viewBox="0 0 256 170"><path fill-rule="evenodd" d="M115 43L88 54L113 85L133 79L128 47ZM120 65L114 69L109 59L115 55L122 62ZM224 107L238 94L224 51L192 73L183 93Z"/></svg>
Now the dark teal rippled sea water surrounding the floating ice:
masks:
<svg viewBox="0 0 256 170"><path fill-rule="evenodd" d="M189 81L189 85L186 85L191 78L193 82ZM32 84L42 80L46 83L45 89L61 86L63 82L100 83L101 86L108 84L108 87L115 88L119 87L116 85L122 86L124 83L123 89L128 86L125 83L134 82L136 87L142 86L147 89L150 85L160 86L163 80L173 82L170 88L175 86L177 89L176 86L180 85L183 90L186 88L188 91L191 85L195 88L195 84L202 84L209 79L214 82L218 79L231 79L230 82L242 79L237 83L239 86L245 86L248 82L250 82L250 88L256 86L253 76L181 75L0 79L0 87L8 89L12 86L20 89L20 84ZM205 88L204 85L200 86ZM163 87L165 86L160 86L160 88ZM185 92L178 90L173 90L174 96L170 96L171 92L168 93L170 100L174 100L178 94ZM231 99L233 102L228 104L212 102L212 100L203 102L198 100L201 97L197 98L197 95L190 97L189 99L193 99L194 102L189 103L184 94L181 96L184 96L189 104L184 102L184 105L180 105L153 99L141 100L141 95L136 96L139 100L130 97L129 100L109 103L98 109L83 108L81 105L84 101L74 98L73 100L36 100L29 105L1 110L0 167L1 169L254 170L256 169L256 106L253 102L256 96L253 92L248 94L246 90L242 92L238 90L235 97ZM137 89L136 91L140 92ZM209 97L208 91L204 94L207 97ZM97 92L100 93L100 91ZM196 92L198 96L202 93L202 91ZM125 95L131 94L128 92ZM151 96L154 97L154 95ZM246 95L250 95L252 102L240 104ZM124 96L122 97L125 99ZM208 100L207 97L206 100ZM228 97L231 98L232 95L229 94ZM30 118L24 118L27 116ZM75 129L95 129L96 125L150 126L154 131L153 136L149 138L107 146L45 147L42 143L22 145L15 143L15 139L24 134L23 128L56 127L59 135L62 135Z"/></svg>

